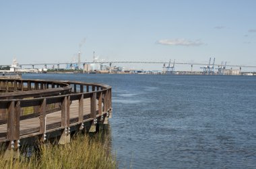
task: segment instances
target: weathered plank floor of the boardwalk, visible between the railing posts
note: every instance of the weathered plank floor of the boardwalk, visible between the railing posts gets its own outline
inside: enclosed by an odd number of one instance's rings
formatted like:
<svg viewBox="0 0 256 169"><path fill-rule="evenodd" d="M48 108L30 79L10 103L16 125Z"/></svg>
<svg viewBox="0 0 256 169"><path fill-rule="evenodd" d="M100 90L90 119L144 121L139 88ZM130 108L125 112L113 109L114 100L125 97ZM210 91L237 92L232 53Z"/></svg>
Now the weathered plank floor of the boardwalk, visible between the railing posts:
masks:
<svg viewBox="0 0 256 169"><path fill-rule="evenodd" d="M98 104L98 101L97 101ZM89 115L90 114L90 98L84 99L84 115ZM98 107L97 107L98 108ZM97 109L98 110L98 109ZM79 111L79 103L78 101L72 101L70 105L70 113L69 117L70 119L76 118L78 116L78 111ZM51 125L54 123L61 123L61 111L56 111L54 113L49 113L46 115L46 125ZM40 127L40 121L39 117L34 117L31 119L24 119L20 120L20 133L22 135L22 131L28 130L28 129L33 129L33 128L38 128ZM0 133L6 133L7 132L7 124L2 124L0 125ZM30 132L31 134L33 132ZM26 135L22 135L23 137L26 137ZM3 137L0 137L0 139L5 139Z"/></svg>

